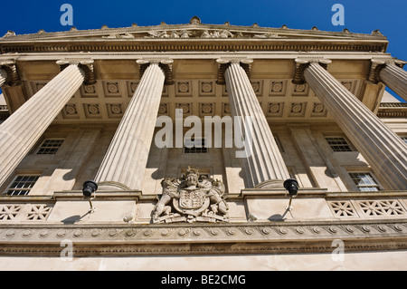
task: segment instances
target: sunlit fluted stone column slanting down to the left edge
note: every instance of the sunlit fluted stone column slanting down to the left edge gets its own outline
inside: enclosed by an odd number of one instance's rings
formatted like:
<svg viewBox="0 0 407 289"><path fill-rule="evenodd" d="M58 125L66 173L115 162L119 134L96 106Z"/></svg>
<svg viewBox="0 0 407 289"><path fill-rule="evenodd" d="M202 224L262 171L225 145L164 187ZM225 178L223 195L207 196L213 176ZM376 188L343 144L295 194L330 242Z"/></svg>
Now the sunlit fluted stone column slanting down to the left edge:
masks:
<svg viewBox="0 0 407 289"><path fill-rule="evenodd" d="M85 79L71 64L0 125L0 185L51 124Z"/></svg>

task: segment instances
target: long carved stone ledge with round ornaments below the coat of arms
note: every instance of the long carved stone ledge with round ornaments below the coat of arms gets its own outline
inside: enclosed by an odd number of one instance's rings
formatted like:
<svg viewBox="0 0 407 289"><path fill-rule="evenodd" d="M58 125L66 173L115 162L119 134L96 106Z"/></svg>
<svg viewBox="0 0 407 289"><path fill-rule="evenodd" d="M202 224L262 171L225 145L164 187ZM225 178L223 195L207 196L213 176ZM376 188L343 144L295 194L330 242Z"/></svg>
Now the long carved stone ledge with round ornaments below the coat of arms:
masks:
<svg viewBox="0 0 407 289"><path fill-rule="evenodd" d="M0 255L190 255L325 252L407 248L407 219L216 225L1 225Z"/></svg>

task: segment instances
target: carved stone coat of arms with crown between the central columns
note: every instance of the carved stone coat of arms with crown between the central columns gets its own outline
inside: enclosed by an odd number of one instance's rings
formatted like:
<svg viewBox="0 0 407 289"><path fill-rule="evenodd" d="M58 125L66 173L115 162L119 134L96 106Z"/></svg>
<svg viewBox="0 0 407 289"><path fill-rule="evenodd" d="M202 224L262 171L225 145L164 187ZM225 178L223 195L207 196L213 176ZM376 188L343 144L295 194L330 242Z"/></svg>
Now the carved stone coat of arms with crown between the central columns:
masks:
<svg viewBox="0 0 407 289"><path fill-rule="evenodd" d="M228 222L225 188L188 167L180 178L164 178L163 194L153 210L153 223Z"/></svg>

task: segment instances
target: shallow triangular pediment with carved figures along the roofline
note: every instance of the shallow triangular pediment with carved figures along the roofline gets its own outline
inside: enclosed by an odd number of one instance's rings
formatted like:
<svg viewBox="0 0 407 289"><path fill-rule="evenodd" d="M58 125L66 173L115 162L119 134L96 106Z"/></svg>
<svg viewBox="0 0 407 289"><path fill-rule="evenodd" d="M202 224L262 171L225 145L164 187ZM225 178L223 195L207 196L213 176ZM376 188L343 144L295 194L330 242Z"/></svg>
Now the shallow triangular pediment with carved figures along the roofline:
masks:
<svg viewBox="0 0 407 289"><path fill-rule="evenodd" d="M109 28L103 25L100 29L78 30L71 27L71 30L65 32L46 33L40 30L36 34L14 34L8 31L0 42L18 42L18 41L58 41L58 40L166 40L166 39L212 39L212 40L244 40L244 39L263 39L263 40L386 40L379 31L372 34L354 34L347 29L343 32L319 31L317 27L310 30L290 29L286 25L279 28L260 27L258 24L251 26L225 24L202 24L201 20L194 16L188 24L165 24L161 23L155 26L138 26L132 24L129 27Z"/></svg>

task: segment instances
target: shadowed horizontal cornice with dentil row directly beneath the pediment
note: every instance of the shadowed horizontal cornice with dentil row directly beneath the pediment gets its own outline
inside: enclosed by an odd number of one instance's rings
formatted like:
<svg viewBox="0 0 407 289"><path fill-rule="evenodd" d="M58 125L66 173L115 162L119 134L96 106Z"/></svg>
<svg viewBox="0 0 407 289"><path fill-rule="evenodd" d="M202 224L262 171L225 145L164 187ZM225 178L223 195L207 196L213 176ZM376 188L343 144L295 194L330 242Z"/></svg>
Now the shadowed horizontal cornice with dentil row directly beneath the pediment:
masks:
<svg viewBox="0 0 407 289"><path fill-rule="evenodd" d="M114 39L0 42L1 53L379 52L387 41L303 39Z"/></svg>

